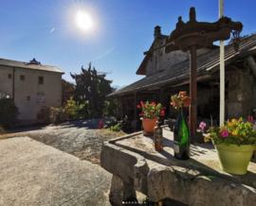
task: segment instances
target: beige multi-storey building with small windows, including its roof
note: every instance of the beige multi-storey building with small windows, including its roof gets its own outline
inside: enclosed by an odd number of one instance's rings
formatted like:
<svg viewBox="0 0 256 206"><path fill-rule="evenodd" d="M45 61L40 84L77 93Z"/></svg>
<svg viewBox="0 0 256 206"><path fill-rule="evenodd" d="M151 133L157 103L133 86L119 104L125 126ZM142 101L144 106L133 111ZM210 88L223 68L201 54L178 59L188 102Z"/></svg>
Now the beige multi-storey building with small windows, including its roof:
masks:
<svg viewBox="0 0 256 206"><path fill-rule="evenodd" d="M0 98L12 98L23 124L38 120L42 106L62 106L62 75L56 66L0 59Z"/></svg>

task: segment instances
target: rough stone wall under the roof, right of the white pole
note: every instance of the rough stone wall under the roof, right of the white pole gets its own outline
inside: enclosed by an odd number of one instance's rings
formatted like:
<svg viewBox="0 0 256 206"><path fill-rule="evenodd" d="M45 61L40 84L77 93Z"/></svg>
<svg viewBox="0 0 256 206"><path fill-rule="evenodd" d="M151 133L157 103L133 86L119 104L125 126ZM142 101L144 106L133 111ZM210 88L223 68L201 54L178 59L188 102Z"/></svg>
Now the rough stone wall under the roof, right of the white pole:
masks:
<svg viewBox="0 0 256 206"><path fill-rule="evenodd" d="M240 80L234 89L229 88L228 97L228 118L247 119L252 114L252 109L256 108L256 86L254 77L243 72L238 72ZM230 81L236 81L235 76L231 76Z"/></svg>

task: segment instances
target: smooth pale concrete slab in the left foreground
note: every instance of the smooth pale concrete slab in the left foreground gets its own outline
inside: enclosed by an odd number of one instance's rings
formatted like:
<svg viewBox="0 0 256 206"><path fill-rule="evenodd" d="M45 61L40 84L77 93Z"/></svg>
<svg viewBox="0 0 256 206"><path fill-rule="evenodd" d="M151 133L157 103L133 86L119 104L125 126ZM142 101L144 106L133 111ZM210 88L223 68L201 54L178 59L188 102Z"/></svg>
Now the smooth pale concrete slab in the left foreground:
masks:
<svg viewBox="0 0 256 206"><path fill-rule="evenodd" d="M0 205L111 205L111 174L28 137L0 140Z"/></svg>

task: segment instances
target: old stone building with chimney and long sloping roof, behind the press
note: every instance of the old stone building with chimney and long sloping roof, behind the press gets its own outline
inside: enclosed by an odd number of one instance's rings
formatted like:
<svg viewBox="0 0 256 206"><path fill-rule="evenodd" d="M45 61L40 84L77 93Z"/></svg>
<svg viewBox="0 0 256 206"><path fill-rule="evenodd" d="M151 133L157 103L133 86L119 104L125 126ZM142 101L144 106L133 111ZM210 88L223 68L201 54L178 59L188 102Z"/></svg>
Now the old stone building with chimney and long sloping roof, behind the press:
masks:
<svg viewBox="0 0 256 206"><path fill-rule="evenodd" d="M170 105L171 95L179 91L190 92L190 53L173 51L165 53L165 43L169 36L161 34L160 26L155 26L151 52L137 69L137 75L144 78L121 90L109 94L119 98L119 117L139 117L137 104L150 100L166 107L165 118L176 116ZM240 41L238 52L233 44L225 46L226 70L226 119L251 115L256 108L256 34ZM219 119L219 47L213 45L197 50L197 116L218 121Z"/></svg>

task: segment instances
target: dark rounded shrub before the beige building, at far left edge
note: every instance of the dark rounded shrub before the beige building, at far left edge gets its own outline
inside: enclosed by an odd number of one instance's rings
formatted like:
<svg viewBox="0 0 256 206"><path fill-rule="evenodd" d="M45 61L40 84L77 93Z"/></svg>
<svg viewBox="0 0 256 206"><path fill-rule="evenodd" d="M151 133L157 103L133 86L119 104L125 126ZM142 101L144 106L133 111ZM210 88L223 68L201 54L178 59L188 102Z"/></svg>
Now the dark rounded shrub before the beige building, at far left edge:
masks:
<svg viewBox="0 0 256 206"><path fill-rule="evenodd" d="M18 123L19 109L11 98L0 99L0 125L10 128Z"/></svg>

